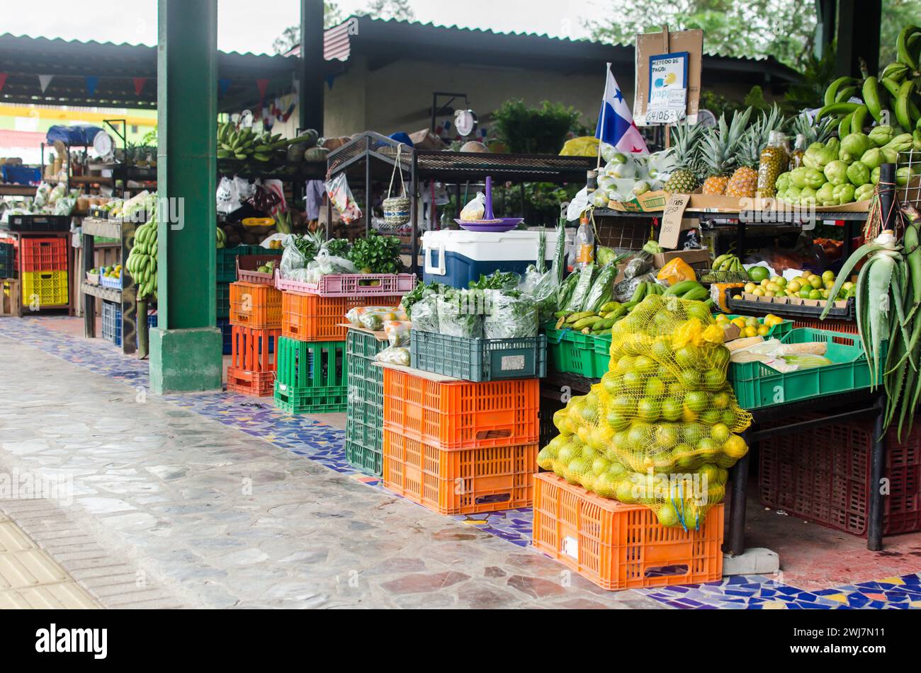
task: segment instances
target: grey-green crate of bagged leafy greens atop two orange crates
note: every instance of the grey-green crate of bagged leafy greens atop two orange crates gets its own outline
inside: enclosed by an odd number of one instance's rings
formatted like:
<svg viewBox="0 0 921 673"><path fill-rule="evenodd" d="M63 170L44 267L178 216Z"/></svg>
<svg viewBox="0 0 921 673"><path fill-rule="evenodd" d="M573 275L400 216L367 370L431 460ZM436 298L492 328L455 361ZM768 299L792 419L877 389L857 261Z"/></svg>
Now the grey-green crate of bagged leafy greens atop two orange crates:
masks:
<svg viewBox="0 0 921 673"><path fill-rule="evenodd" d="M474 383L542 379L547 337L469 339L413 330L410 358L416 369Z"/></svg>

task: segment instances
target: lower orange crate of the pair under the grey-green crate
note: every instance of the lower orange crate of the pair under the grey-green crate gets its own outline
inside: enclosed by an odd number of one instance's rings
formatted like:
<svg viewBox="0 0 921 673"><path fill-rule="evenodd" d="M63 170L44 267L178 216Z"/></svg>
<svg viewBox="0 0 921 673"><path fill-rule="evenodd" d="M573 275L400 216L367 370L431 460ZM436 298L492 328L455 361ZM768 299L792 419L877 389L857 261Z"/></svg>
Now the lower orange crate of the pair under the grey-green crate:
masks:
<svg viewBox="0 0 921 673"><path fill-rule="evenodd" d="M384 428L384 485L439 514L530 507L537 444L445 451Z"/></svg>

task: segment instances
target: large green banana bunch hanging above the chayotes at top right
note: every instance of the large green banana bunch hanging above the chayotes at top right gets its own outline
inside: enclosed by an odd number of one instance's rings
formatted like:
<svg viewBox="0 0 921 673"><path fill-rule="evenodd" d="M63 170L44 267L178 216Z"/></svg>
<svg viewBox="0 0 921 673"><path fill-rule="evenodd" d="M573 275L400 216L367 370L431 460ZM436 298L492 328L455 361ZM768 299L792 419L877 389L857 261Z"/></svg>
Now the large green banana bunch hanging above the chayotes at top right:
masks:
<svg viewBox="0 0 921 673"><path fill-rule="evenodd" d="M906 26L896 40L897 58L879 76L866 72L862 79L839 77L825 90L824 106L816 119L836 117L838 134L844 138L850 133L862 133L872 118L882 124L882 110L892 112L901 130L913 135L915 149L921 150L921 28ZM862 98L862 103L852 103L852 97Z"/></svg>

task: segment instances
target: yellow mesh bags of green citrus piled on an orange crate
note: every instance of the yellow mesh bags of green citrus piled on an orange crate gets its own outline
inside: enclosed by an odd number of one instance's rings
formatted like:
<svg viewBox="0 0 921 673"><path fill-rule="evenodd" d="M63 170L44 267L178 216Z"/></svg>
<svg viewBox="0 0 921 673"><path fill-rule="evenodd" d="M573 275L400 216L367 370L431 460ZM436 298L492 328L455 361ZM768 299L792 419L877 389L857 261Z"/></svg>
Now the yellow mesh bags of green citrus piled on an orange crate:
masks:
<svg viewBox="0 0 921 673"><path fill-rule="evenodd" d="M650 296L614 325L611 364L554 414L538 463L573 484L696 530L748 452L752 416L726 379L723 328L703 302Z"/></svg>

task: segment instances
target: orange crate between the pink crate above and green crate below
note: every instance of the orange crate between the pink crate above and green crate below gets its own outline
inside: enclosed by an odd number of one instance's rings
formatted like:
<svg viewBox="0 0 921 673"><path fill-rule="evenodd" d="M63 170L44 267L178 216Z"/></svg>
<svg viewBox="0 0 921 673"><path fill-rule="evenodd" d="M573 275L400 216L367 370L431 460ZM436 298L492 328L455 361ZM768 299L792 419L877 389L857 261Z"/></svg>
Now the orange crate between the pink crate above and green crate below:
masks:
<svg viewBox="0 0 921 673"><path fill-rule="evenodd" d="M401 296L321 297L282 292L282 336L296 341L344 341L345 314L359 306L399 306Z"/></svg>

